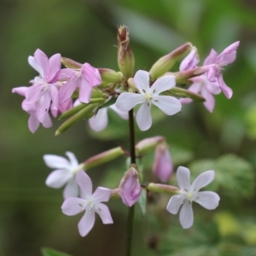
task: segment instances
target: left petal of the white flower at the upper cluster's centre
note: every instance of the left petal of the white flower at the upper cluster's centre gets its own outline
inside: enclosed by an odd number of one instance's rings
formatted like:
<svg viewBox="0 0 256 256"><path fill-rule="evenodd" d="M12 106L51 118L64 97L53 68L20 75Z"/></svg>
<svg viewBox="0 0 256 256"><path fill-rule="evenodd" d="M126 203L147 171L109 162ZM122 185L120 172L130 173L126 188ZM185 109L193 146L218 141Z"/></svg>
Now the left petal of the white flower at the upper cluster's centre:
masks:
<svg viewBox="0 0 256 256"><path fill-rule="evenodd" d="M132 92L123 92L119 95L116 101L116 108L120 111L128 112L137 104L145 102L144 96Z"/></svg>

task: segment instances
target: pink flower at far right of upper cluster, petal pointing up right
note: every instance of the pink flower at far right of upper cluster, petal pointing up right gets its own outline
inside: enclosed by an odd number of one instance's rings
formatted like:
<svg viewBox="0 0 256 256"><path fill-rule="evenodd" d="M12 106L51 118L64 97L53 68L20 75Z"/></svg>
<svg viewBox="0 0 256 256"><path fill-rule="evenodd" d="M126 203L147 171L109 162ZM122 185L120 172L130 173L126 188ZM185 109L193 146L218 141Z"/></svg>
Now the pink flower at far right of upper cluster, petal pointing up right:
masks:
<svg viewBox="0 0 256 256"><path fill-rule="evenodd" d="M207 56L205 65L212 65L207 73L207 79L211 82L218 81L219 88L223 91L224 95L230 99L233 91L230 87L224 83L224 79L221 73L222 67L232 63L236 60L236 49L239 46L240 42L230 44L222 53L219 55L217 52L212 49L210 54Z"/></svg>

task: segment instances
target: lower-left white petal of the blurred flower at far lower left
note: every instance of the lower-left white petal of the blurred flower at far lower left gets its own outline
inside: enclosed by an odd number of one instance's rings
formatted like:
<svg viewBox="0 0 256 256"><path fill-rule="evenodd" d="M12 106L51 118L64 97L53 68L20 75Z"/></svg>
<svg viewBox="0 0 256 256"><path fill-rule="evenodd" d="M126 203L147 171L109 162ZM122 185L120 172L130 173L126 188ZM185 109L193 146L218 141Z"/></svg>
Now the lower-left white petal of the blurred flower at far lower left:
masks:
<svg viewBox="0 0 256 256"><path fill-rule="evenodd" d="M72 176L72 173L67 170L56 170L49 173L45 183L50 188L59 189L64 186Z"/></svg>

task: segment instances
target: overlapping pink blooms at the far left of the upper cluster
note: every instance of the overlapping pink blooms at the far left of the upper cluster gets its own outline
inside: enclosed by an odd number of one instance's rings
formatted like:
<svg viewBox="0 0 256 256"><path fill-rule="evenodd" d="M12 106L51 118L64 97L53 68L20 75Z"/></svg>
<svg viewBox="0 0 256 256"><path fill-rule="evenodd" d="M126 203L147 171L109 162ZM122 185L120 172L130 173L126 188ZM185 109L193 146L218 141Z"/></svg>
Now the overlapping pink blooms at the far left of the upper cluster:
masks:
<svg viewBox="0 0 256 256"><path fill-rule="evenodd" d="M49 108L53 116L58 113L58 88L61 86L58 73L61 70L61 55L55 54L48 59L43 51L37 49L33 57L28 57L28 63L38 71L40 76L31 81L32 86L17 87L12 92L25 96L22 108L31 115L29 129L34 132L38 129L39 123L45 127L52 125L49 119Z"/></svg>

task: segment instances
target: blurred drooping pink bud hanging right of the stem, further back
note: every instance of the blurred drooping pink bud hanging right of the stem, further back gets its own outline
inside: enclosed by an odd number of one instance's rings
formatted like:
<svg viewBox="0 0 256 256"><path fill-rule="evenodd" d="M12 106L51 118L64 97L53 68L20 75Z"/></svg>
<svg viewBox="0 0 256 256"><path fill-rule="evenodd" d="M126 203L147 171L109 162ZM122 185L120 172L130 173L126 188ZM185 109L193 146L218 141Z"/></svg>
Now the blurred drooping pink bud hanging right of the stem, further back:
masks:
<svg viewBox="0 0 256 256"><path fill-rule="evenodd" d="M161 182L166 182L172 175L172 159L166 143L160 143L155 148L153 172Z"/></svg>

